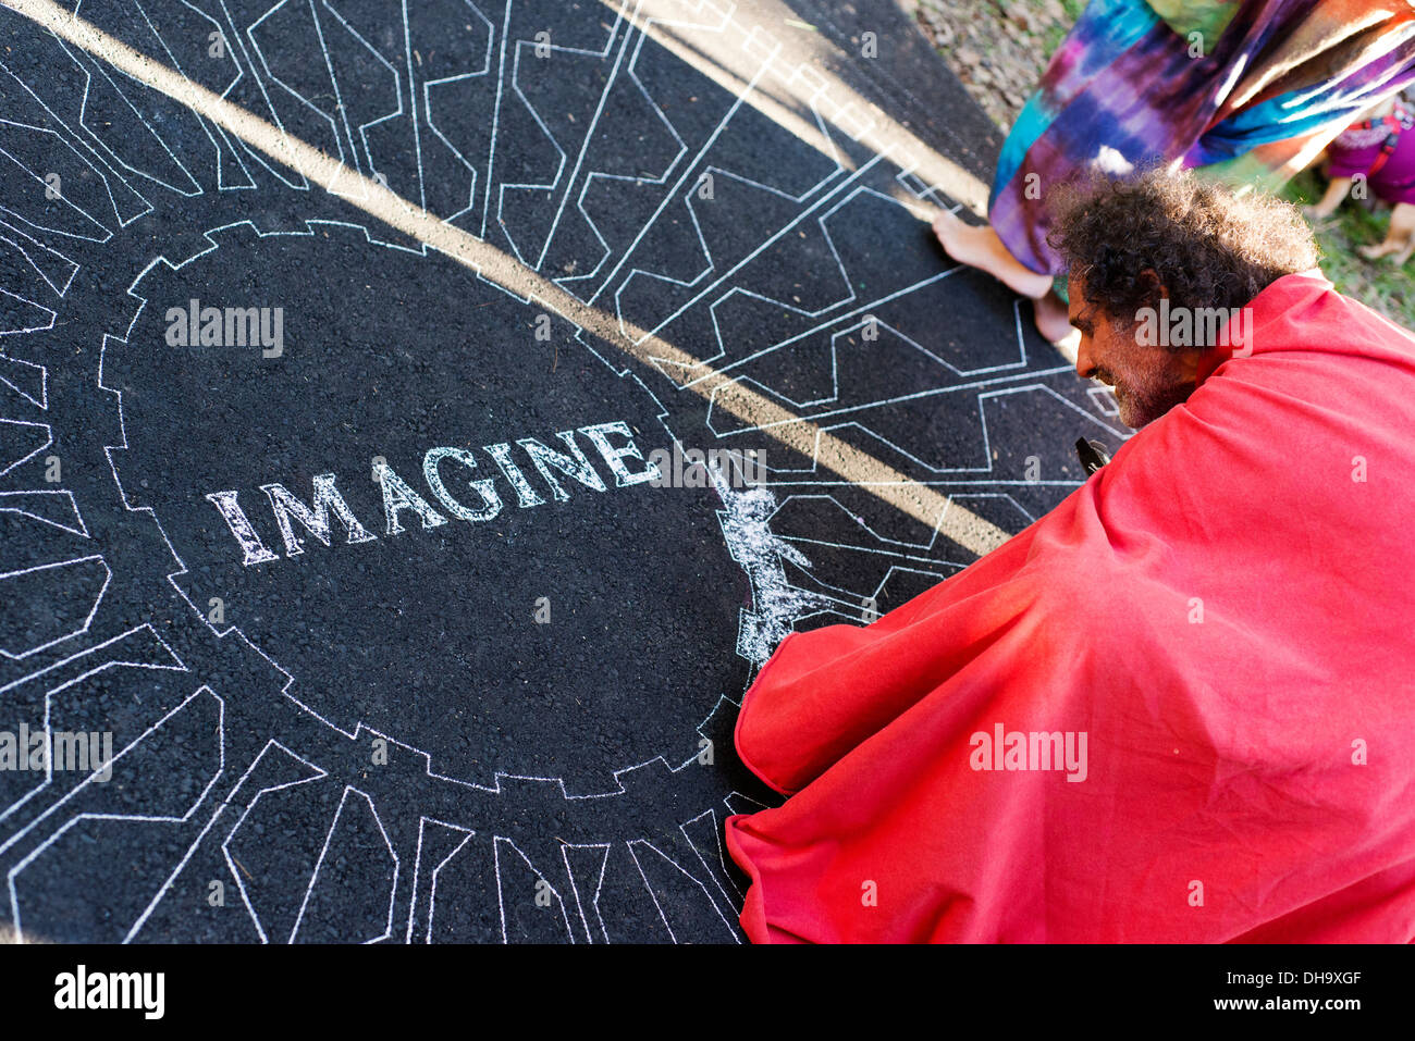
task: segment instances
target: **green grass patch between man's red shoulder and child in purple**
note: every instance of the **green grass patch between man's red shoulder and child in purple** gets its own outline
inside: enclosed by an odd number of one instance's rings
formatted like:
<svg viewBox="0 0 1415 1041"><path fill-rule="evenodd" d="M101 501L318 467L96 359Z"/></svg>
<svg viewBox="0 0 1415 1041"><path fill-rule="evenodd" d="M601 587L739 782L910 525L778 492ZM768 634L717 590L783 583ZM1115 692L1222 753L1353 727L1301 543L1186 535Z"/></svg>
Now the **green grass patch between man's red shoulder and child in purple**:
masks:
<svg viewBox="0 0 1415 1041"><path fill-rule="evenodd" d="M1315 171L1305 170L1288 184L1282 197L1306 205L1322 198L1324 187ZM1356 252L1357 246L1384 239L1390 218L1387 207L1370 212L1351 199L1343 202L1336 215L1316 229L1322 270L1339 291L1360 300L1398 325L1415 328L1415 279L1411 276L1415 260L1397 267L1390 260L1367 260Z"/></svg>

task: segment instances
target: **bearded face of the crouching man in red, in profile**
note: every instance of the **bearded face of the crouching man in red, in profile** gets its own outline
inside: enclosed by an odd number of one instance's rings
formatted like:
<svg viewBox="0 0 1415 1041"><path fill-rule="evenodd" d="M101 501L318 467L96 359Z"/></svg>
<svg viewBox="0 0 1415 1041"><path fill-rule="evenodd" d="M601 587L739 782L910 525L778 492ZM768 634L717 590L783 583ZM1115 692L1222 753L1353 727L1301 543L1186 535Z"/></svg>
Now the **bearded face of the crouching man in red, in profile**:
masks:
<svg viewBox="0 0 1415 1041"><path fill-rule="evenodd" d="M1082 289L1077 276L1067 280L1067 317L1081 332L1075 371L1081 379L1098 379L1115 390L1121 423L1138 430L1186 400L1194 392L1201 352L1135 342L1140 325L1126 330L1115 322L1087 303Z"/></svg>

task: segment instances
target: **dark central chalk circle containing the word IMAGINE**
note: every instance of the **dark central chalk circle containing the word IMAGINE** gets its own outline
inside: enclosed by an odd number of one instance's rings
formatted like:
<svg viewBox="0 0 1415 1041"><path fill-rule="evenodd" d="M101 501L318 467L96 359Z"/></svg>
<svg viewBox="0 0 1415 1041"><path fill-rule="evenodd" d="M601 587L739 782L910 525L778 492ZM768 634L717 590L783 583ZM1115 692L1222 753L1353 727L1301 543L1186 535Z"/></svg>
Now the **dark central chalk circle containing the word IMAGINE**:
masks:
<svg viewBox="0 0 1415 1041"><path fill-rule="evenodd" d="M613 348L362 228L208 238L238 263L149 266L105 364L125 492L154 511L192 608L327 723L444 775L586 793L696 755L740 690L751 591L723 492L652 479L675 436ZM703 583L740 595L693 597Z"/></svg>

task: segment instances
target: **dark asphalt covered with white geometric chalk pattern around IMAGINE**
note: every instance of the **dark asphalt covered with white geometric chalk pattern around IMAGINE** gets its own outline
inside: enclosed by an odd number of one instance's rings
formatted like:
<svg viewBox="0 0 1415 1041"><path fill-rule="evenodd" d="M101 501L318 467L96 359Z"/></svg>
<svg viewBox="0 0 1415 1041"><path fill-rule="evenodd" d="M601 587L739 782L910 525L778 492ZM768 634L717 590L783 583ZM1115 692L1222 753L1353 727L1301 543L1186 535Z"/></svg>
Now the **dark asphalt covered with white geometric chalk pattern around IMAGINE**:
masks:
<svg viewBox="0 0 1415 1041"><path fill-rule="evenodd" d="M1125 436L931 246L920 216L957 204L852 132L853 74L782 58L770 4L69 6L1007 532L1080 485L1077 437ZM699 396L702 371L631 359L7 8L0 41L0 731L112 735L108 779L0 771L0 929L741 942L723 819L777 802L732 750L743 692L792 629L972 554ZM729 51L743 76L713 75ZM280 307L283 355L173 347L198 297ZM617 421L645 457L760 451L764 479L596 487L519 454L528 505L487 454ZM433 446L505 508L389 533L371 467L426 495ZM369 539L283 552L262 488L308 501L324 472ZM228 489L276 559L242 563Z"/></svg>

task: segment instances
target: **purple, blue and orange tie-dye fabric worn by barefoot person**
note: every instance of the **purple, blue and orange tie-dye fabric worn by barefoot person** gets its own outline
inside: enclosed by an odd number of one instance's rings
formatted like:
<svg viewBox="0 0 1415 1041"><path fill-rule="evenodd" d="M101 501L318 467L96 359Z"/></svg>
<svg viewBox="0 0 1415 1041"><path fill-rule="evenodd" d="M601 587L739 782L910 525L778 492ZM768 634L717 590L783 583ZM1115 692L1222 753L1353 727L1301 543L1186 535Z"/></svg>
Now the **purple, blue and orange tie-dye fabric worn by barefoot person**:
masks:
<svg viewBox="0 0 1415 1041"><path fill-rule="evenodd" d="M1060 274L1054 185L1177 163L1272 188L1411 83L1415 0L1091 0L1002 147L988 215Z"/></svg>

